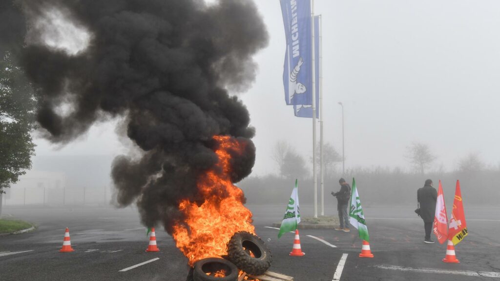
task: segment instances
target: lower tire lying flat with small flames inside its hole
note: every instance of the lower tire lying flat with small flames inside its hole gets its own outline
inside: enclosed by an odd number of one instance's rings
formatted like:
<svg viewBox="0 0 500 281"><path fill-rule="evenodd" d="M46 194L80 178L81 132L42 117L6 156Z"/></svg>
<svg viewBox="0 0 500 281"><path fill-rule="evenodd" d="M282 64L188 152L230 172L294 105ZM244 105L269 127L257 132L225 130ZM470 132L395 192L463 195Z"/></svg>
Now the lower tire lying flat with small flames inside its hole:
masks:
<svg viewBox="0 0 500 281"><path fill-rule="evenodd" d="M203 258L194 263L193 281L236 281L238 268L230 261L219 257ZM223 276L217 276L219 274ZM209 274L209 275L208 275Z"/></svg>

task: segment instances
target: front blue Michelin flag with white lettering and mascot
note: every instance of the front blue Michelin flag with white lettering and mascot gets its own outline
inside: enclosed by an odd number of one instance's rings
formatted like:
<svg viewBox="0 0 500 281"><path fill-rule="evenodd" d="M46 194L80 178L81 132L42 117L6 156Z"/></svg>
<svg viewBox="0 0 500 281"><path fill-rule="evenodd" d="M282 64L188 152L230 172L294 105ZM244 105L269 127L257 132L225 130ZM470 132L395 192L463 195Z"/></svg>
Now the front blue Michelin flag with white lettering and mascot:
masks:
<svg viewBox="0 0 500 281"><path fill-rule="evenodd" d="M312 104L310 0L279 0L286 51L283 86L286 104Z"/></svg>

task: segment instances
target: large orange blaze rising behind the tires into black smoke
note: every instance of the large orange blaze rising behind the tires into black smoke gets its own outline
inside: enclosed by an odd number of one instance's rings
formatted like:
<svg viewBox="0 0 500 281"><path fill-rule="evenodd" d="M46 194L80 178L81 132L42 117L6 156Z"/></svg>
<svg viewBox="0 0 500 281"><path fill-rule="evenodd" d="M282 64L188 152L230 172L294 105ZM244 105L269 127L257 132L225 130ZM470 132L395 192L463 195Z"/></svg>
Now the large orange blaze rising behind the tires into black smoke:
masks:
<svg viewBox="0 0 500 281"><path fill-rule="evenodd" d="M173 227L172 236L176 246L193 265L199 259L227 254L227 242L237 231L255 233L252 213L243 206L243 191L230 181L231 151L244 151L244 144L230 136L214 136L218 148L217 167L209 170L197 180L200 194L205 198L201 205L187 199L179 203L179 210L185 219Z"/></svg>

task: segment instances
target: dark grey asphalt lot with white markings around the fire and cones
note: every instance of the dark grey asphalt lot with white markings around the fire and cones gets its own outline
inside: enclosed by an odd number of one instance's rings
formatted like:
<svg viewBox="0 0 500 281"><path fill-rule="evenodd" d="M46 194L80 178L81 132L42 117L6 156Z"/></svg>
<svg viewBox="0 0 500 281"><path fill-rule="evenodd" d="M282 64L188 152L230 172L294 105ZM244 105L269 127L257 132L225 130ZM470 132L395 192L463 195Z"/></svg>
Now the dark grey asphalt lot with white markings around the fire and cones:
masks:
<svg viewBox="0 0 500 281"><path fill-rule="evenodd" d="M423 223L412 208L365 208L373 258L361 258L356 231L300 231L304 256L289 256L293 234L277 239L283 207L248 206L258 236L272 252L270 270L294 280L500 280L500 208L465 208L469 234L456 247L460 263L444 263L446 245L423 243ZM310 206L301 206L310 215ZM326 214L333 214L332 207ZM31 233L0 237L0 281L185 280L187 259L164 230L156 229L159 252L145 252L145 228L136 209L104 207L6 208L4 214L37 224ZM73 252L60 253L64 228ZM352 229L351 229L352 230ZM309 236L310 235L310 236ZM332 247L323 241L334 245ZM338 266L344 257L344 266ZM123 270L142 262L143 265Z"/></svg>

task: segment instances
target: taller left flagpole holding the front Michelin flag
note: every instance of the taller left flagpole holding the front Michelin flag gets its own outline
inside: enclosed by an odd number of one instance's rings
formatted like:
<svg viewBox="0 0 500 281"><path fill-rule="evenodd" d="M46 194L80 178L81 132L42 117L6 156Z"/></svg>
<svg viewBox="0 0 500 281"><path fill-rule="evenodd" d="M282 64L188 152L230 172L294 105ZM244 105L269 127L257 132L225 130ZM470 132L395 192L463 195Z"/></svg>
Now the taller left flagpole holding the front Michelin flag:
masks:
<svg viewBox="0 0 500 281"><path fill-rule="evenodd" d="M312 178L314 188L314 217L317 217L317 175L316 175L316 81L314 64L314 0L311 0L311 33L312 33Z"/></svg>

